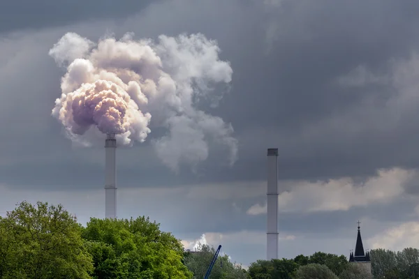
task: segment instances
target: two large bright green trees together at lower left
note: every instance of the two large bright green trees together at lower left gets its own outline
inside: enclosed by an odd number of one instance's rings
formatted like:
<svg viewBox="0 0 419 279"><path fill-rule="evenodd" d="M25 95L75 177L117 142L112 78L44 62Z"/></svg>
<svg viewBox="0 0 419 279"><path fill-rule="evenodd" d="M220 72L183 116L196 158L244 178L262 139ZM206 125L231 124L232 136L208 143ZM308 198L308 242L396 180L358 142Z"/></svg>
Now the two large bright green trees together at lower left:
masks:
<svg viewBox="0 0 419 279"><path fill-rule="evenodd" d="M61 205L22 202L0 218L0 278L188 279L183 247L147 218L83 228Z"/></svg>

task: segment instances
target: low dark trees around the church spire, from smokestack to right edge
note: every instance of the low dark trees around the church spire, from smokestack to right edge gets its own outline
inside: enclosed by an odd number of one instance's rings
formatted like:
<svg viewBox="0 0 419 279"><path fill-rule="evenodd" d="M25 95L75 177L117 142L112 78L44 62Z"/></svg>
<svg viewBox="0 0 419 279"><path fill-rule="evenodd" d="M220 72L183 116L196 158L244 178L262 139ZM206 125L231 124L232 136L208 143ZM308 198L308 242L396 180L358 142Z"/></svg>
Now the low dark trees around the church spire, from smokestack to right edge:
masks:
<svg viewBox="0 0 419 279"><path fill-rule="evenodd" d="M419 250L405 248L402 251L374 249L369 252L372 274L362 266L351 264L344 255L337 256L316 252L295 259L258 260L249 266L252 279L418 279Z"/></svg>

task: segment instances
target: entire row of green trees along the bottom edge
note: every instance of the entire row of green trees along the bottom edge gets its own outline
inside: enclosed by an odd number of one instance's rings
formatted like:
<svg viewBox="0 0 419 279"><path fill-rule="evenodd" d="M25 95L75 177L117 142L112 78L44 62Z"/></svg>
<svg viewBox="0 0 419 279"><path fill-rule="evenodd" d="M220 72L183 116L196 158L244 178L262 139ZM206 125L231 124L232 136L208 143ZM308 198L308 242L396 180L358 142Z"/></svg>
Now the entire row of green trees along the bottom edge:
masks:
<svg viewBox="0 0 419 279"><path fill-rule="evenodd" d="M182 243L148 218L101 220L85 227L61 205L22 202L0 217L0 278L202 279L214 256L210 246L184 252ZM419 251L371 250L374 278L419 278ZM316 252L295 259L258 260L244 270L227 255L212 279L366 279L371 274L344 255Z"/></svg>

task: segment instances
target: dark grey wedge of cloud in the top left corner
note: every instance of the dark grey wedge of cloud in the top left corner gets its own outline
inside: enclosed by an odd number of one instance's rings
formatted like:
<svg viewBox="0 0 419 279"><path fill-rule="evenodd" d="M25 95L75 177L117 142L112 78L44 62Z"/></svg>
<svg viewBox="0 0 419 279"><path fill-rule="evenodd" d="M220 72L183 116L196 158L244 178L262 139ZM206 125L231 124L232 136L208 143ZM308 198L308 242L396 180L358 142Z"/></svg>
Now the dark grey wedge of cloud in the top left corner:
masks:
<svg viewBox="0 0 419 279"><path fill-rule="evenodd" d="M6 0L0 4L0 33L57 27L92 20L119 20L138 13L152 2L155 1Z"/></svg>

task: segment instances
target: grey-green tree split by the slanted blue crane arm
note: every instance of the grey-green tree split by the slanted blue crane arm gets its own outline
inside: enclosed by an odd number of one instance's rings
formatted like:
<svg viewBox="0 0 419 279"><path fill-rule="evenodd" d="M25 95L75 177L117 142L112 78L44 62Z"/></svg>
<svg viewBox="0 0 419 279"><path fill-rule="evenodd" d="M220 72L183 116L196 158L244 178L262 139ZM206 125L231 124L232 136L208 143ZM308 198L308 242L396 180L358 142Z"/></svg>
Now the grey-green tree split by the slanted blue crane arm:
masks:
<svg viewBox="0 0 419 279"><path fill-rule="evenodd" d="M199 245L197 251L188 252L184 262L193 273L193 278L203 278L216 250L207 245ZM212 279L246 279L247 271L240 264L230 262L228 255L219 255L211 272Z"/></svg>

